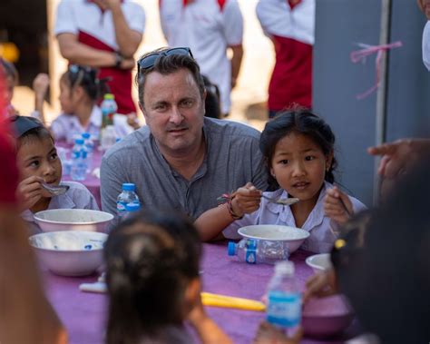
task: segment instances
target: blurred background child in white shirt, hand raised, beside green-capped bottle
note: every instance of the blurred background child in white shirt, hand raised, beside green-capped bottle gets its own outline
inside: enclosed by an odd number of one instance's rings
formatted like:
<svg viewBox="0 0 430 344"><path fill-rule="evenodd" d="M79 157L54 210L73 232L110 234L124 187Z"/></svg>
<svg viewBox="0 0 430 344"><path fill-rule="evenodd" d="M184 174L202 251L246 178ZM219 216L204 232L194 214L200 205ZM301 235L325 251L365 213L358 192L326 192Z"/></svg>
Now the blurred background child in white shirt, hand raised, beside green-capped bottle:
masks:
<svg viewBox="0 0 430 344"><path fill-rule="evenodd" d="M105 81L97 79L97 70L77 64L69 66L60 79L60 104L63 113L55 118L51 131L55 140L73 143L75 137L90 133L94 139L99 138L102 126L102 110L97 101L106 93ZM113 117L118 137L132 133L127 124L127 117Z"/></svg>

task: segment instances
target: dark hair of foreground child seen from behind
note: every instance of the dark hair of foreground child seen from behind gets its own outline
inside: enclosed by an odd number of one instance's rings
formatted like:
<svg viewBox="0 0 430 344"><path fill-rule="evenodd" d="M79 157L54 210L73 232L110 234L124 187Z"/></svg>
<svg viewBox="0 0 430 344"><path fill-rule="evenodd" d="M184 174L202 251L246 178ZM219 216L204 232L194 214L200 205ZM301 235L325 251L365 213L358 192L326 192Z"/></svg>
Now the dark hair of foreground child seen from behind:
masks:
<svg viewBox="0 0 430 344"><path fill-rule="evenodd" d="M151 211L123 221L104 246L110 295L108 344L137 343L183 321L183 295L199 277L201 244L192 222Z"/></svg>

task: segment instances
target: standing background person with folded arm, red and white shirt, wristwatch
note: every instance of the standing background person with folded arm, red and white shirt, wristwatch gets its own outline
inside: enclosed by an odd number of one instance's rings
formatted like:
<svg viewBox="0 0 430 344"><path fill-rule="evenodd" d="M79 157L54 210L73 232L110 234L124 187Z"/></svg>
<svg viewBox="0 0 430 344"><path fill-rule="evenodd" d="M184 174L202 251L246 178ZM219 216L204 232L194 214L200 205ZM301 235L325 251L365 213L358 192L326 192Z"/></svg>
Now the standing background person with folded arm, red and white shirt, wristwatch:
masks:
<svg viewBox="0 0 430 344"><path fill-rule="evenodd" d="M133 54L142 42L145 13L131 0L62 0L54 33L71 64L99 68L110 78L118 113L136 113L132 101Z"/></svg>

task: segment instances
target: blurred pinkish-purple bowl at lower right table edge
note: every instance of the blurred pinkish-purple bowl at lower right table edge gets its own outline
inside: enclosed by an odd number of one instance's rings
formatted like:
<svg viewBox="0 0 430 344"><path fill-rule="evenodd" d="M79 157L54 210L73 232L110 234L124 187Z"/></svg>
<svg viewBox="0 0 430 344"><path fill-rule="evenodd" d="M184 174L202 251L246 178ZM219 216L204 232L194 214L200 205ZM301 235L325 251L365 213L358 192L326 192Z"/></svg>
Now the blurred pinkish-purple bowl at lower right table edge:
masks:
<svg viewBox="0 0 430 344"><path fill-rule="evenodd" d="M341 333L354 319L354 311L343 295L313 298L303 307L302 327L306 336L327 338Z"/></svg>

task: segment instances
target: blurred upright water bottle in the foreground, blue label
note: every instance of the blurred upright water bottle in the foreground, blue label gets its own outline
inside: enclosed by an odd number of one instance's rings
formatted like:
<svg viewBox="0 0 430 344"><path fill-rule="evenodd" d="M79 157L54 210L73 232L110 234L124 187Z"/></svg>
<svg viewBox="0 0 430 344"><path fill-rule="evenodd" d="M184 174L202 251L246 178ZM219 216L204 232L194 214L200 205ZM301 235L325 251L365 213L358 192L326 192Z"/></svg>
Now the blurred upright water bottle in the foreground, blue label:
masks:
<svg viewBox="0 0 430 344"><path fill-rule="evenodd" d="M301 293L292 261L279 261L268 285L269 323L294 332L301 320Z"/></svg>

